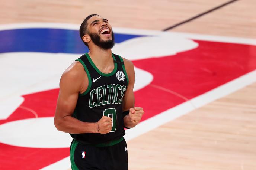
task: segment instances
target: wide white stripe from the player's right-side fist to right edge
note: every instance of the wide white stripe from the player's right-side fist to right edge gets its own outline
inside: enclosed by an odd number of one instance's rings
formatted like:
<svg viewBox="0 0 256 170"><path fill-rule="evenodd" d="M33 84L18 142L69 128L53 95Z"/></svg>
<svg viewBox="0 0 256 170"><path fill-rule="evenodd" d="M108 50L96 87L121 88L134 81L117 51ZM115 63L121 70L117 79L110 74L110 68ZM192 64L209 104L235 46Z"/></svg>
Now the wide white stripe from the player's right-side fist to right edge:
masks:
<svg viewBox="0 0 256 170"><path fill-rule="evenodd" d="M170 108L160 114L157 114L147 120L136 125L134 128L127 129L125 134L125 140L131 140L141 134L144 134L150 130L163 125L169 121L176 119L182 115L187 114L197 108L200 108L206 104L209 104L212 101L225 97L241 88L244 88L247 85L256 82L256 70L249 72L239 78L236 78L226 84L218 86L211 91L205 92L202 95L199 95L195 98L192 98L189 101L183 102L173 108ZM192 107L191 102L195 107Z"/></svg>

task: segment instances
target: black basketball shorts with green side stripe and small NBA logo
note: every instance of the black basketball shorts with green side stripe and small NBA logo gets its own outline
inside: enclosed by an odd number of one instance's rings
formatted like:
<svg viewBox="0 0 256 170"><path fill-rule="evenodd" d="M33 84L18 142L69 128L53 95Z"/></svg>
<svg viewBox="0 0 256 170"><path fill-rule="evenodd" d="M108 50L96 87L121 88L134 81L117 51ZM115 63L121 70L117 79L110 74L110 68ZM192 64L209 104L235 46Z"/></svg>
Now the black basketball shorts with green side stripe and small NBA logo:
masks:
<svg viewBox="0 0 256 170"><path fill-rule="evenodd" d="M72 170L128 170L125 139L112 146L88 146L73 140L70 161Z"/></svg>

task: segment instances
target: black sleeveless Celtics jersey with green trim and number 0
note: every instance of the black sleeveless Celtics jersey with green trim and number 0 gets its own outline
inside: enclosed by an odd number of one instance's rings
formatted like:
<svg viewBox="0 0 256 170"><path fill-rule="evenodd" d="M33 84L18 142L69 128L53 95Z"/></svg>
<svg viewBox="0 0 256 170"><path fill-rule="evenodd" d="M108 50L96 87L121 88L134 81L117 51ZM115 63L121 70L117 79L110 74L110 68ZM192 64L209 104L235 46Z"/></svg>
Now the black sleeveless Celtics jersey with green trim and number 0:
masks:
<svg viewBox="0 0 256 170"><path fill-rule="evenodd" d="M118 140L125 135L122 98L129 80L123 59L115 54L112 57L115 67L108 74L100 72L88 53L76 60L84 66L89 85L83 94L79 94L73 117L83 122L98 122L105 115L111 117L113 123L112 130L107 134L70 134L80 143L100 144Z"/></svg>

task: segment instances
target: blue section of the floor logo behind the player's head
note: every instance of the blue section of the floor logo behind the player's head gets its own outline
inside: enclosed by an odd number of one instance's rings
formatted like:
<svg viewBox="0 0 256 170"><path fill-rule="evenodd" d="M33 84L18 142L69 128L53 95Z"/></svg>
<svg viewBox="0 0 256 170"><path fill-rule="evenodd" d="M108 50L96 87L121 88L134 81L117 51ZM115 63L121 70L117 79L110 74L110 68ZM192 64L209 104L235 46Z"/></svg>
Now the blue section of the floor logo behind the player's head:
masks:
<svg viewBox="0 0 256 170"><path fill-rule="evenodd" d="M115 42L141 35L115 33ZM78 30L68 29L13 29L0 31L0 53L5 52L49 52L86 53L89 49L80 39Z"/></svg>

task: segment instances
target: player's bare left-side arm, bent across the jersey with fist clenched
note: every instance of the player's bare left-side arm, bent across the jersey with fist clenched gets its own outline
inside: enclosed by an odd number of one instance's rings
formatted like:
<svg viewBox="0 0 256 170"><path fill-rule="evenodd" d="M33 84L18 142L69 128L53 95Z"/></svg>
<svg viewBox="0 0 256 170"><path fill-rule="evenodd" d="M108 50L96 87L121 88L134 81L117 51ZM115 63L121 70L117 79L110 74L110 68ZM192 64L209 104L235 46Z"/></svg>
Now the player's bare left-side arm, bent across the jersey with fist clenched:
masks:
<svg viewBox="0 0 256 170"><path fill-rule="evenodd" d="M61 76L54 125L59 131L71 134L108 133L112 128L110 128L112 121L109 117L103 117L99 122L95 123L83 122L72 117L78 94L81 91L85 91L83 89L83 82L87 75L83 69L79 62L74 62ZM87 86L88 78L86 79L86 88Z"/></svg>

